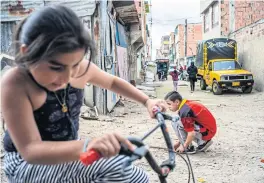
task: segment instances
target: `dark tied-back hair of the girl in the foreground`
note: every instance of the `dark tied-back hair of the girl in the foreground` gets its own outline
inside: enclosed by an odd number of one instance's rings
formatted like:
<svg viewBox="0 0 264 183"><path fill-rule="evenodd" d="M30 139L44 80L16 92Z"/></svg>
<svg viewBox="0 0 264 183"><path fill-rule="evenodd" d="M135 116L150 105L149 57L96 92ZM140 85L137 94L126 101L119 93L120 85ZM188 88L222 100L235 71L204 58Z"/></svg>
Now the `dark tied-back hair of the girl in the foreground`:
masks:
<svg viewBox="0 0 264 183"><path fill-rule="evenodd" d="M23 67L82 48L89 53L90 61L95 57L94 43L88 31L78 16L63 5L47 6L33 12L20 22L14 39L15 63ZM22 44L27 46L24 54L20 53Z"/></svg>

